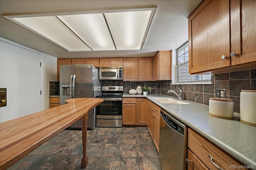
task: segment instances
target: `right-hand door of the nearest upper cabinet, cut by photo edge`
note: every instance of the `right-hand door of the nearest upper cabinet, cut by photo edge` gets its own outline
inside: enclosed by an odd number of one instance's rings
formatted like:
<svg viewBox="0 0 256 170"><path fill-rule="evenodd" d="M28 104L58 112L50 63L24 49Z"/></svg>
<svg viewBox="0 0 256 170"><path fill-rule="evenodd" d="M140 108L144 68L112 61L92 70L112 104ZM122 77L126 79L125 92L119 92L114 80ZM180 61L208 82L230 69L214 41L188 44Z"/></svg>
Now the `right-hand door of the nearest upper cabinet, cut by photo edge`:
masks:
<svg viewBox="0 0 256 170"><path fill-rule="evenodd" d="M231 65L256 61L256 1L230 1Z"/></svg>

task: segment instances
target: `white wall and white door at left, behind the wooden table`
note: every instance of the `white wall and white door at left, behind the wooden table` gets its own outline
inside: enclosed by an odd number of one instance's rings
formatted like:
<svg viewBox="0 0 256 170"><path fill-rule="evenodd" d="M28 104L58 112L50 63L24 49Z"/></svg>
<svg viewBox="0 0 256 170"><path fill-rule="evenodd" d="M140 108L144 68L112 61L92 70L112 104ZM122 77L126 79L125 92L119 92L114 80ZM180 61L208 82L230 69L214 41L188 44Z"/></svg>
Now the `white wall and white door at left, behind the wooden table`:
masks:
<svg viewBox="0 0 256 170"><path fill-rule="evenodd" d="M0 43L0 88L7 88L0 122L48 109L49 81L57 79L57 59L2 37Z"/></svg>

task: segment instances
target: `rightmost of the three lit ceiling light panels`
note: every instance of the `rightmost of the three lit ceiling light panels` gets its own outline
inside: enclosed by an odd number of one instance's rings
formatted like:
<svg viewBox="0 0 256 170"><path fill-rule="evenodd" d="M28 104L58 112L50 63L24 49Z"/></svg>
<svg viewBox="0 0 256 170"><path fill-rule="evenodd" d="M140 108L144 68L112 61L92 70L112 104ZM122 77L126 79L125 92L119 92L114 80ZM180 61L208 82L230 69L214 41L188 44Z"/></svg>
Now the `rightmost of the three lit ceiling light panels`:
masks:
<svg viewBox="0 0 256 170"><path fill-rule="evenodd" d="M151 11L106 13L117 50L139 50L150 19Z"/></svg>

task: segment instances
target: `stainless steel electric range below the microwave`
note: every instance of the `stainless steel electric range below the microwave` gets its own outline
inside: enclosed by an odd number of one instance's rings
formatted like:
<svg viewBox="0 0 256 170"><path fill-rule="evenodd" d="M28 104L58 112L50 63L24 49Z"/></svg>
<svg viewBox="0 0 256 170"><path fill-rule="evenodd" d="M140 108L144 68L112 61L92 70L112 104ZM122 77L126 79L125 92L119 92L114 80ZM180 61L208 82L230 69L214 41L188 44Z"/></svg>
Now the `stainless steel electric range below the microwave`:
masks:
<svg viewBox="0 0 256 170"><path fill-rule="evenodd" d="M102 86L101 91L96 98L104 102L96 106L96 127L122 127L123 86Z"/></svg>

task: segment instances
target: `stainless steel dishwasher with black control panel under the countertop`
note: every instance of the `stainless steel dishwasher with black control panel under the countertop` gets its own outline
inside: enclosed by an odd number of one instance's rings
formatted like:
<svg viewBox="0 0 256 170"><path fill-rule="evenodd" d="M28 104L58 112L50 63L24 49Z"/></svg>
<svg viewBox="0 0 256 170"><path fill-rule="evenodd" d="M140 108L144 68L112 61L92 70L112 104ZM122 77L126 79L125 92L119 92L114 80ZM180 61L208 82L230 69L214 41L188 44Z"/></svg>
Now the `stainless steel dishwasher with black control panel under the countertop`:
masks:
<svg viewBox="0 0 256 170"><path fill-rule="evenodd" d="M188 127L161 109L159 161L162 170L186 170Z"/></svg>

